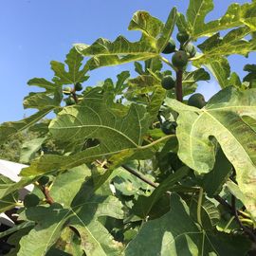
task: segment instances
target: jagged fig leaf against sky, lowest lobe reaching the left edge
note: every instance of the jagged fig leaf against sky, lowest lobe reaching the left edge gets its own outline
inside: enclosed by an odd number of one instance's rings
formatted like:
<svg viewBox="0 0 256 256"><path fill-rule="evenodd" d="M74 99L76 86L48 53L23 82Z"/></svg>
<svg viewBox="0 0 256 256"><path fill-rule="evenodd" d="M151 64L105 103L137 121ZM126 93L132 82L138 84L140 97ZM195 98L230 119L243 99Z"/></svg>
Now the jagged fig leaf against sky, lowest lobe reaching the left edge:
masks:
<svg viewBox="0 0 256 256"><path fill-rule="evenodd" d="M61 85L84 82L88 79L88 76L85 76L87 71L85 67L80 70L82 59L82 55L75 48L72 48L66 55L65 60L68 71L65 71L64 64L52 62L51 66L55 72L53 82L48 82L43 78L35 78L27 82L28 85L36 85L46 89L45 92L29 93L24 99L24 108L36 108L39 111L27 119L2 123L0 125L0 143L5 142L12 135L27 129L46 117L51 111L61 107L60 104L63 100Z"/></svg>

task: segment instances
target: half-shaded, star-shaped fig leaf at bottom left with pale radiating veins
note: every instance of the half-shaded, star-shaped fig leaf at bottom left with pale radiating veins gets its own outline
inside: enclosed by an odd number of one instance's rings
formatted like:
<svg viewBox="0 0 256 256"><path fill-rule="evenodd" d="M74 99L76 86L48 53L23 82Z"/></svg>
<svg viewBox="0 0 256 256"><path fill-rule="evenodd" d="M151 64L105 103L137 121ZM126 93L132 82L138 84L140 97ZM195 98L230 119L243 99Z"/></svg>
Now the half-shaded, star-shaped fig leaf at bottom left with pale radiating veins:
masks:
<svg viewBox="0 0 256 256"><path fill-rule="evenodd" d="M86 169L84 171L87 172ZM66 185L69 180L75 180L75 176L68 174L69 176L65 177ZM72 227L79 232L81 247L86 254L98 255L97 253L101 252L100 255L119 255L122 245L113 239L98 221L98 217L108 215L122 218L122 205L113 196L95 194L91 180L83 183L81 179L78 185L80 189L75 198L73 192L59 195L60 202L64 197L68 197L69 201L73 198L69 207L66 205L62 208L53 204L49 208L36 207L25 211L26 218L37 222L38 225L21 239L21 249L17 255L29 255L32 251L35 256L46 254L66 227ZM87 193L85 197L84 192ZM42 242L38 243L38 239Z"/></svg>

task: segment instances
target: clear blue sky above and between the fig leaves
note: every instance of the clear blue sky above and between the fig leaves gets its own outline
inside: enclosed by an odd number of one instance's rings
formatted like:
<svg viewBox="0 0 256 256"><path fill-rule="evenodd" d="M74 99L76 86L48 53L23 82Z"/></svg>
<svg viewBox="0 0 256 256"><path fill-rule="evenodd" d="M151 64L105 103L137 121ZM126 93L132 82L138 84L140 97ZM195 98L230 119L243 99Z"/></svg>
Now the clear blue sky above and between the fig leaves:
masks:
<svg viewBox="0 0 256 256"><path fill-rule="evenodd" d="M214 0L215 9L207 19L219 18L232 2L248 1ZM137 40L137 31L127 27L138 9L149 11L162 21L176 6L185 12L189 0L2 0L0 9L0 122L23 119L28 113L22 101L33 89L27 81L34 77L52 78L49 62L64 61L65 54L74 43L90 45L99 37L114 40L119 34ZM252 63L236 56L231 67L243 73L243 65ZM96 69L84 84L94 85L107 77L115 77L127 66ZM207 98L217 90L214 82L200 86Z"/></svg>

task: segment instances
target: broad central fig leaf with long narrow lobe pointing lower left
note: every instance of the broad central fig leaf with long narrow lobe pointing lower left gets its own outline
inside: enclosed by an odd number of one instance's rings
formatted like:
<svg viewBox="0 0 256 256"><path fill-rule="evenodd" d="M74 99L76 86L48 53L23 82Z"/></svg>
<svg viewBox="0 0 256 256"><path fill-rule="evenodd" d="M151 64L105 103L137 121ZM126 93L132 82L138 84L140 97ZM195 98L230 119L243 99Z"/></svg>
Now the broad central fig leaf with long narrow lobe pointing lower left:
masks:
<svg viewBox="0 0 256 256"><path fill-rule="evenodd" d="M127 150L128 155L133 154L141 146L148 123L149 117L143 106L132 104L129 109L118 110L111 96L88 95L82 104L64 108L51 121L49 131L60 141L83 144L85 139L94 138L100 144L75 155L44 155L24 169L22 174L65 170Z"/></svg>

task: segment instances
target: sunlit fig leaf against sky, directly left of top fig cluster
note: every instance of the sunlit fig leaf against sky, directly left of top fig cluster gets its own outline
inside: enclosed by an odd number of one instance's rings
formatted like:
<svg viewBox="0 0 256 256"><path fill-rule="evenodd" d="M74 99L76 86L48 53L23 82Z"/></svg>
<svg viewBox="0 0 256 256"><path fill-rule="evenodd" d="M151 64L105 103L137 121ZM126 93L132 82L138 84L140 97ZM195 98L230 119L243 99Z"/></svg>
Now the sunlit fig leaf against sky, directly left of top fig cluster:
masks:
<svg viewBox="0 0 256 256"><path fill-rule="evenodd" d="M114 42L99 38L91 46L76 44L75 47L83 56L90 57L85 69L101 66L125 64L158 57L168 43L174 30L176 9L172 9L164 25L146 11L137 11L129 25L130 30L140 30L142 37L137 42L130 42L119 36Z"/></svg>

